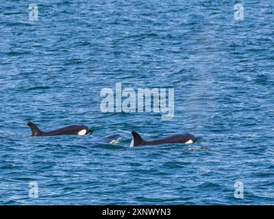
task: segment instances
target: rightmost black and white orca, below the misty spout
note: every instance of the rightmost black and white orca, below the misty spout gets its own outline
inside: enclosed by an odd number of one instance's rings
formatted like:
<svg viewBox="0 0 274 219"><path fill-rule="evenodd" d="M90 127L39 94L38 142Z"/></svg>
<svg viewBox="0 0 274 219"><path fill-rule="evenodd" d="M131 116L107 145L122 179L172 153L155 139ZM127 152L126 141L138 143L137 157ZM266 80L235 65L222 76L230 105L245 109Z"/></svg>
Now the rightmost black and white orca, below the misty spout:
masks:
<svg viewBox="0 0 274 219"><path fill-rule="evenodd" d="M141 145L156 145L156 144L191 144L196 142L197 138L192 134L175 134L166 138L159 138L156 140L146 141L136 131L132 131L132 143L130 146L141 146Z"/></svg>

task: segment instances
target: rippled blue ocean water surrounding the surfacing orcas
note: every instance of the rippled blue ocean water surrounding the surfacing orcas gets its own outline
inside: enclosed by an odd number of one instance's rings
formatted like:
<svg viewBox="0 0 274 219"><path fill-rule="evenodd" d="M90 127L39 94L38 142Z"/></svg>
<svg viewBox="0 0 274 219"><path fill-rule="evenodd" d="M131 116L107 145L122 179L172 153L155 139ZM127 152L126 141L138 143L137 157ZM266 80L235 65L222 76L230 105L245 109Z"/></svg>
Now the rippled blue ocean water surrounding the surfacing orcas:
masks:
<svg viewBox="0 0 274 219"><path fill-rule="evenodd" d="M272 1L37 0L38 21L29 3L0 3L1 205L273 204ZM116 83L174 88L174 118L101 112ZM28 121L93 133L31 138ZM199 140L129 147L131 131Z"/></svg>

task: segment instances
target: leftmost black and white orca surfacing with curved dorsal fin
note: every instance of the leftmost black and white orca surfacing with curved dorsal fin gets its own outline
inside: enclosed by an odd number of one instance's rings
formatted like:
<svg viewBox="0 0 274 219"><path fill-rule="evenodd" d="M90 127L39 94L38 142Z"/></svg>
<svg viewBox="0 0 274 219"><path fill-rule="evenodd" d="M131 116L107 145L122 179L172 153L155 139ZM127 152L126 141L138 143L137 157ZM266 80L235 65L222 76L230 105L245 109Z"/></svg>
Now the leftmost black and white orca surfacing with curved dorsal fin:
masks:
<svg viewBox="0 0 274 219"><path fill-rule="evenodd" d="M41 131L37 125L32 122L27 123L27 125L32 129L32 136L61 136L61 135L77 135L86 136L92 131L86 125L69 125L60 129L55 129L53 131Z"/></svg>

